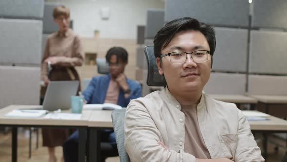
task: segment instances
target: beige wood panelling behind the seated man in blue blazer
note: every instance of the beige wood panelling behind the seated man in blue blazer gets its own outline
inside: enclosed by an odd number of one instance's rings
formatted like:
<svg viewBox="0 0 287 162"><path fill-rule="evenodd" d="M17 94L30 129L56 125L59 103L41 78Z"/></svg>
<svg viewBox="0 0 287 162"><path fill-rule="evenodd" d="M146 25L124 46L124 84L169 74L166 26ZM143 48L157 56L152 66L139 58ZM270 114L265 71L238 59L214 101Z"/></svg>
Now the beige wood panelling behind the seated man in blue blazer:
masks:
<svg viewBox="0 0 287 162"><path fill-rule="evenodd" d="M85 53L96 53L98 58L105 58L109 48L113 46L121 46L128 52L128 64L126 66L125 74L130 79L135 79L136 71L136 40L132 39L95 39L82 38ZM80 78L92 78L100 75L97 72L96 65L83 65L76 67Z"/></svg>

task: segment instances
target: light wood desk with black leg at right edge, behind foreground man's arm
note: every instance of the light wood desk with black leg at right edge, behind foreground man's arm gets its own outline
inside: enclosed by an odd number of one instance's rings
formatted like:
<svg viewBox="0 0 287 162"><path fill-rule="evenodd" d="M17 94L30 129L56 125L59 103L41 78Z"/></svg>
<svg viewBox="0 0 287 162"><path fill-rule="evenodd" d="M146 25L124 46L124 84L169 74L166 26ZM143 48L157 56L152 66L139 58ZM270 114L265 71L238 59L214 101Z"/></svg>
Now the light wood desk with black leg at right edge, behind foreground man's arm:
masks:
<svg viewBox="0 0 287 162"><path fill-rule="evenodd" d="M267 142L269 133L287 133L287 121L269 116L268 121L249 121L253 133L263 133L263 157L267 159Z"/></svg>

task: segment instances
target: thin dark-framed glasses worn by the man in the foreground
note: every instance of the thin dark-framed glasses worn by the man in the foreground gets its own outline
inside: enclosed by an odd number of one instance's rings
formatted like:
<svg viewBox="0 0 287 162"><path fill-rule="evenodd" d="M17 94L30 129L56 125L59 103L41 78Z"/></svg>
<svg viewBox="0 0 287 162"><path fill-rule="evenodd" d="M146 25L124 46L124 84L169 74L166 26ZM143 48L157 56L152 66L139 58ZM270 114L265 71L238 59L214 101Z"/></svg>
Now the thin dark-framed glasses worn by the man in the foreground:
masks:
<svg viewBox="0 0 287 162"><path fill-rule="evenodd" d="M170 62L172 64L182 64L187 59L187 54L191 54L191 59L196 63L206 62L208 60L208 54L210 51L207 50L197 50L193 52L170 52L161 55L160 58L169 56Z"/></svg>

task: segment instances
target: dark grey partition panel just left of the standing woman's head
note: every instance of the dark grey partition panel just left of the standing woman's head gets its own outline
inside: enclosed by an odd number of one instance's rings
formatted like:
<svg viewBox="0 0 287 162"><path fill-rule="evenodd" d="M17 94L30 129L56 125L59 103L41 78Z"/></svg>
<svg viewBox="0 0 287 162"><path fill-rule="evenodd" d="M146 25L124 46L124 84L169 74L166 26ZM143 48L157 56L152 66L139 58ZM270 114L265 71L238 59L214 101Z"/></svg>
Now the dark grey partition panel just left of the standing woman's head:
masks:
<svg viewBox="0 0 287 162"><path fill-rule="evenodd" d="M54 23L53 10L59 5L58 3L45 3L43 17L43 33L51 34L58 31L58 26Z"/></svg>

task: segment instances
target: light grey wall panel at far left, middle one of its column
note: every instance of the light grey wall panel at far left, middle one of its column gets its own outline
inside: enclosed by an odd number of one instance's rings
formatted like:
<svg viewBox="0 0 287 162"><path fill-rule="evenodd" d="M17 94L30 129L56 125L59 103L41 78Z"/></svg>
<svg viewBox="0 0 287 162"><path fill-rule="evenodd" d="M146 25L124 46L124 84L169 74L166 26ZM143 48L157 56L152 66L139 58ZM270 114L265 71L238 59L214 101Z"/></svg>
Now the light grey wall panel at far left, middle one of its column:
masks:
<svg viewBox="0 0 287 162"><path fill-rule="evenodd" d="M42 21L0 19L0 62L40 64Z"/></svg>

